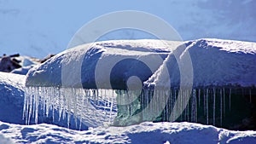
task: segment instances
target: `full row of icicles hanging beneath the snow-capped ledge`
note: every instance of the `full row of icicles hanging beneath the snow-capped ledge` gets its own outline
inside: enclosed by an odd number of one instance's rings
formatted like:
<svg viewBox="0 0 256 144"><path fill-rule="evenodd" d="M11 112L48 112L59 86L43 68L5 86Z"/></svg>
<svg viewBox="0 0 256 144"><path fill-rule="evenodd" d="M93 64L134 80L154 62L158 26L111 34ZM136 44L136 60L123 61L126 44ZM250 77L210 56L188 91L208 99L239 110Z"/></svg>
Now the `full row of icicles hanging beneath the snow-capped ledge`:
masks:
<svg viewBox="0 0 256 144"><path fill-rule="evenodd" d="M162 121L175 121L177 119L173 119L174 117L171 116L171 113L172 115L176 115L177 112L182 111L182 113L178 113L180 114L179 120L196 123L198 118L201 117L199 116L201 113L198 111L200 111L200 107L202 107L202 115L206 119L206 124L215 125L216 118L218 118L218 124L221 125L226 110L230 110L231 108L232 92L233 89L214 88L192 90L169 89L167 91L143 89L140 95L137 96L139 103L134 104L134 101L137 99L134 98L133 94L137 95L137 91L26 87L23 118L26 119L26 124L30 124L32 118L34 118L34 123L38 124L39 114L42 114L43 117L49 117L49 113L51 113L50 115L53 117L53 121L60 121L61 118L67 118L67 127L69 127L70 118L71 115L73 115L76 125L77 119L79 119L80 127L83 118L88 117L86 121L91 121L90 123L95 121L94 118L91 119L91 112L94 112L95 116L98 115L98 117L96 117L98 118L96 123L112 123L116 116L116 111L120 111L117 110L117 105L121 103L125 104L125 113L128 117L133 115L137 109L142 109L143 121L154 120L156 117L161 117ZM250 89L249 93L251 93ZM166 94L168 95L167 99L164 96ZM178 99L178 94L181 95L182 98ZM124 97L120 97L119 100L121 101L117 101L116 97L118 95L124 95ZM183 101L183 97L188 97L188 95L189 101ZM125 103L127 100L130 101ZM149 105L148 103L150 103L150 101L154 102ZM177 104L177 106L175 106L175 104ZM92 105L93 108L91 108L90 105ZM172 112L174 107L177 107L177 112ZM91 111L89 112L88 109ZM154 113L157 114L154 115ZM90 117L88 116L89 114ZM57 118L55 118L55 116L57 116Z"/></svg>

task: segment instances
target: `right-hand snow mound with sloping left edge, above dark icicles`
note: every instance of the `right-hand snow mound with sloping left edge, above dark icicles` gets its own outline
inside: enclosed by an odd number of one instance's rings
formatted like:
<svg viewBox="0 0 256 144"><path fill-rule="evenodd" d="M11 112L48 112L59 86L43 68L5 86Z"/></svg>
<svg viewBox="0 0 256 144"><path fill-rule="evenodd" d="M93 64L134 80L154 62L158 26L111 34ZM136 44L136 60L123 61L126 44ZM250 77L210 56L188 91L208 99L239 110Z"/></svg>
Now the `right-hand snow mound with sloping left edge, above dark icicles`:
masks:
<svg viewBox="0 0 256 144"><path fill-rule="evenodd" d="M145 84L166 87L178 87L183 74L183 85L189 85L186 72L180 71L180 66L188 60L185 54L189 52L193 68L193 87L254 87L256 85L256 43L199 39L186 42L186 49L177 48L164 64L154 72ZM173 54L180 54L175 57ZM168 72L164 71L167 67ZM187 79L186 79L187 78ZM167 81L170 79L170 82ZM188 82L188 83L186 83Z"/></svg>

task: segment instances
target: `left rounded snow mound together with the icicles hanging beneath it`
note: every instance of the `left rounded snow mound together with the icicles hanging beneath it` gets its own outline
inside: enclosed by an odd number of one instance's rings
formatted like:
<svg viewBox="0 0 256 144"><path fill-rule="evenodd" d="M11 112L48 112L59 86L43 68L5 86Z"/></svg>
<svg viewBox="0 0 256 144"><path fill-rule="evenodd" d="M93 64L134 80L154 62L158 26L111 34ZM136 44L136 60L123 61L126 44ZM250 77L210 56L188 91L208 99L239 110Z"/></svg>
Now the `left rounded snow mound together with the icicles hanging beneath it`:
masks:
<svg viewBox="0 0 256 144"><path fill-rule="evenodd" d="M59 117L53 120L65 118L67 112L67 124L71 113L88 126L113 122L118 93L113 89L127 89L125 82L133 75L147 80L173 48L157 40L124 40L84 44L56 55L26 76L26 124L32 117L38 121L38 107L46 117L58 110Z"/></svg>

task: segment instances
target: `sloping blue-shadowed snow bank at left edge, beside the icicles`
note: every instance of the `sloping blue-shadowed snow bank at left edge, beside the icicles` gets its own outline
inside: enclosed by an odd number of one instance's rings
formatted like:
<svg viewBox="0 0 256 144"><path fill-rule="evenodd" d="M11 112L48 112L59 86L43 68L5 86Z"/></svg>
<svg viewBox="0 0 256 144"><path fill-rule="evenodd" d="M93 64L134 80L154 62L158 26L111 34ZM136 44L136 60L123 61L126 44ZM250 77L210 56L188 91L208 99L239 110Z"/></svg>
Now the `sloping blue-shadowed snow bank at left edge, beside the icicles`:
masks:
<svg viewBox="0 0 256 144"><path fill-rule="evenodd" d="M0 72L0 120L25 124L22 120L25 76Z"/></svg>

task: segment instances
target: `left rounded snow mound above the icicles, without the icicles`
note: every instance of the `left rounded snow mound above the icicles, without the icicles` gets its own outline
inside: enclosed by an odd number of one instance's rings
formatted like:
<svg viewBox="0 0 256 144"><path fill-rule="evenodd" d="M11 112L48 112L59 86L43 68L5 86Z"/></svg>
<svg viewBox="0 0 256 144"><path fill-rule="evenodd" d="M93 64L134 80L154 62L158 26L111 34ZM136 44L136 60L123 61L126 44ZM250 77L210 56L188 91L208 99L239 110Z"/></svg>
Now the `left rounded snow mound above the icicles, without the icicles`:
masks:
<svg viewBox="0 0 256 144"><path fill-rule="evenodd" d="M160 40L87 43L32 68L26 86L125 89L125 81L133 75L147 80L178 44Z"/></svg>

